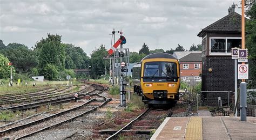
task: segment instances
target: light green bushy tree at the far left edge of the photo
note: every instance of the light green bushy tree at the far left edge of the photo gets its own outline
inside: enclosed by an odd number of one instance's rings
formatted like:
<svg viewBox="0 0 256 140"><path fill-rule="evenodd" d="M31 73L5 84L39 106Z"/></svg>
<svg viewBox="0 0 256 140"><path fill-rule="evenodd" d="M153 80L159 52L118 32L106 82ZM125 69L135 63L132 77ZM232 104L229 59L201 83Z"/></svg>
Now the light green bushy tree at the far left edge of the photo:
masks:
<svg viewBox="0 0 256 140"><path fill-rule="evenodd" d="M9 62L8 58L0 54L0 79L10 78L11 66L8 65ZM12 72L15 72L13 68Z"/></svg>

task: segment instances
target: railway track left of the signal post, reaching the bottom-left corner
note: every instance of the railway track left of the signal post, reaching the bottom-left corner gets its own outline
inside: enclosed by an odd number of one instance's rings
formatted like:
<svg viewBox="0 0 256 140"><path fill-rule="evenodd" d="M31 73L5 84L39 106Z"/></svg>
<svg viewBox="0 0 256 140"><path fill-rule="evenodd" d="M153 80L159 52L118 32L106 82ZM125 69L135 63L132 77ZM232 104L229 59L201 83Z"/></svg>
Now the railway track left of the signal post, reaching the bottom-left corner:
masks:
<svg viewBox="0 0 256 140"><path fill-rule="evenodd" d="M99 91L99 89L104 88L95 87L95 90L86 93L86 97L89 97L90 99L86 100L77 107L64 110L63 112L44 117L42 119L23 124L21 126L16 126L0 131L0 136L17 137L17 139L25 138L46 129L51 129L53 127L59 126L62 123L71 121L73 119L76 119L77 117L90 113L93 110L97 110L97 108L105 105L108 101L111 100L100 95L103 90Z"/></svg>

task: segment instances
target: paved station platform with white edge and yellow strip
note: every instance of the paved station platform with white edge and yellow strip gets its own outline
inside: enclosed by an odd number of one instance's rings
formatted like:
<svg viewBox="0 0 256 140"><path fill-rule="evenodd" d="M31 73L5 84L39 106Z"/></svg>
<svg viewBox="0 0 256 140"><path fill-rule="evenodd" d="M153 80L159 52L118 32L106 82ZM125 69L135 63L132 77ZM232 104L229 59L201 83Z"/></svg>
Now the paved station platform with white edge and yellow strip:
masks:
<svg viewBox="0 0 256 140"><path fill-rule="evenodd" d="M256 139L256 117L167 117L151 139Z"/></svg>

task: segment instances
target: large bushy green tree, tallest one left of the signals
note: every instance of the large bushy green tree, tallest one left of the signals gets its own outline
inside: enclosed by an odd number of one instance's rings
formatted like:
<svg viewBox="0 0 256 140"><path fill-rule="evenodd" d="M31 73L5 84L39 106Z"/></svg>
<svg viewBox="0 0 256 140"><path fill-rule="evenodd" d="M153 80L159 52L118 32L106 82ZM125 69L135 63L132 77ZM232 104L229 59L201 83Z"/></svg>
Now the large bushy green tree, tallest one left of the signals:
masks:
<svg viewBox="0 0 256 140"><path fill-rule="evenodd" d="M44 67L47 64L55 66L59 70L65 67L65 45L61 43L62 36L48 34L48 38L42 39L35 45L38 53L39 73L45 73ZM49 78L52 79L52 78Z"/></svg>

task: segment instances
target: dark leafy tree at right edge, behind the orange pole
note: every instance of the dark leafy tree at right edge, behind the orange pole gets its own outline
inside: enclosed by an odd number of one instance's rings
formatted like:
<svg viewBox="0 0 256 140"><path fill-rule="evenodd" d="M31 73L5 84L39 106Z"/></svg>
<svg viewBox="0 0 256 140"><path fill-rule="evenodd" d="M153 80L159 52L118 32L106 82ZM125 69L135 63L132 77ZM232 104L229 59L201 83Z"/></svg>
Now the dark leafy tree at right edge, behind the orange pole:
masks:
<svg viewBox="0 0 256 140"><path fill-rule="evenodd" d="M252 82L250 86L256 87L256 4L249 5L246 16L246 47L248 49L249 73Z"/></svg>

